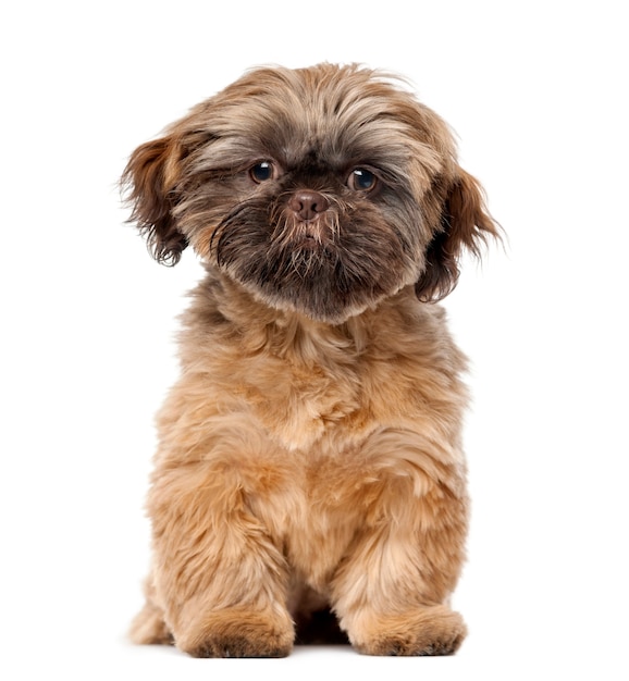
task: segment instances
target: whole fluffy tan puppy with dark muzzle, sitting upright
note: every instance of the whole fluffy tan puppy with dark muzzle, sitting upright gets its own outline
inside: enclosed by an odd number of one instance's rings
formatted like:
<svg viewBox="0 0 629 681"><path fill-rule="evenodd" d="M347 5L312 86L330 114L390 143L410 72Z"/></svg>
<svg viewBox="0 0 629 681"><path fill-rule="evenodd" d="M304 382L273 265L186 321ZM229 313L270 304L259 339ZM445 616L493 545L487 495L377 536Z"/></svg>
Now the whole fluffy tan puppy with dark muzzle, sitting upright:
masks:
<svg viewBox="0 0 629 681"><path fill-rule="evenodd" d="M206 270L157 418L133 641L453 654L467 360L437 301L499 227L448 126L375 70L258 67L122 183L153 257L190 246Z"/></svg>

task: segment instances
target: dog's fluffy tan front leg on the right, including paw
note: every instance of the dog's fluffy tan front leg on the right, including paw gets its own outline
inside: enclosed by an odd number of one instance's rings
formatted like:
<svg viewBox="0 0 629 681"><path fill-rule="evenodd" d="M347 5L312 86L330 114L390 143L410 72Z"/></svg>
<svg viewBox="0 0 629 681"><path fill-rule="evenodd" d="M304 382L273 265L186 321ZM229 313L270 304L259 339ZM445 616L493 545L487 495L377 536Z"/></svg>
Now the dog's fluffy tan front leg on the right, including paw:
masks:
<svg viewBox="0 0 629 681"><path fill-rule="evenodd" d="M383 471L333 580L334 610L361 653L449 655L465 637L448 606L464 559L465 488L456 467L428 468L406 460Z"/></svg>

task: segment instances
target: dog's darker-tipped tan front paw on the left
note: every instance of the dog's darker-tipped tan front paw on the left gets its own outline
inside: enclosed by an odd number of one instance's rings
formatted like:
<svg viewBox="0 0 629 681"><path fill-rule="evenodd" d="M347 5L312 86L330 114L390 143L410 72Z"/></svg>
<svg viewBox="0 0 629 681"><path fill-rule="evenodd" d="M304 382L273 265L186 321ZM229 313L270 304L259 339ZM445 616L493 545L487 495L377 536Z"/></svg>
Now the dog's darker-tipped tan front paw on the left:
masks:
<svg viewBox="0 0 629 681"><path fill-rule="evenodd" d="M207 615L176 644L193 657L286 657L294 637L288 614L234 608Z"/></svg>

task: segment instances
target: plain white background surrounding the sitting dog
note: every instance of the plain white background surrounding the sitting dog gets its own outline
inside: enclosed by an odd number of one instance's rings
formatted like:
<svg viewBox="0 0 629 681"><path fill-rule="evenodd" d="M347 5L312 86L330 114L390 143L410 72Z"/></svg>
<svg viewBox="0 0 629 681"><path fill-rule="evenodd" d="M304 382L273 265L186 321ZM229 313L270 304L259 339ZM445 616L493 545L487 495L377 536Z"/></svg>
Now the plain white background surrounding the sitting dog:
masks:
<svg viewBox="0 0 629 681"><path fill-rule="evenodd" d="M2 678L628 678L622 4L4 3ZM457 131L508 235L447 301L473 360L455 598L470 634L443 659L132 646L152 416L199 267L187 251L175 269L149 258L116 181L137 145L249 66L318 61L408 76Z"/></svg>

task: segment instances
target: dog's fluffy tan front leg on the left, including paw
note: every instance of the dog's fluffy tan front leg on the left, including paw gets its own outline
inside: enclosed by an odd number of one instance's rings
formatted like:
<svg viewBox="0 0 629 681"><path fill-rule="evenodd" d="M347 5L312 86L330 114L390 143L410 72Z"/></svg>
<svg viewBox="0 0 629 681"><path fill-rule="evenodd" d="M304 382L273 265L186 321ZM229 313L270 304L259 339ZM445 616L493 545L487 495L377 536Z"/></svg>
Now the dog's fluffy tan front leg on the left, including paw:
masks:
<svg viewBox="0 0 629 681"><path fill-rule="evenodd" d="M149 495L156 599L195 657L282 657L293 646L281 550L247 507L234 468L156 471Z"/></svg>

